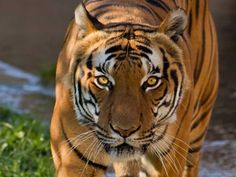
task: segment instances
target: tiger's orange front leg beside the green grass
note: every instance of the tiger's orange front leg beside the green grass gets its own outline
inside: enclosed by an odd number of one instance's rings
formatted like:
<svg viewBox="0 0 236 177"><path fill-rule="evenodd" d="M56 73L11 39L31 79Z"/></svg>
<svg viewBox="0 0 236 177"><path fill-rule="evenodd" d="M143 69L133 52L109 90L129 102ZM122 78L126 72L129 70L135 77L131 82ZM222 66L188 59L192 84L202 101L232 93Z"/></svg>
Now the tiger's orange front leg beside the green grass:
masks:
<svg viewBox="0 0 236 177"><path fill-rule="evenodd" d="M93 130L73 119L73 113L66 111L69 107L68 103L60 111L60 103L56 104L51 122L51 150L57 177L105 177L109 162L103 145Z"/></svg>

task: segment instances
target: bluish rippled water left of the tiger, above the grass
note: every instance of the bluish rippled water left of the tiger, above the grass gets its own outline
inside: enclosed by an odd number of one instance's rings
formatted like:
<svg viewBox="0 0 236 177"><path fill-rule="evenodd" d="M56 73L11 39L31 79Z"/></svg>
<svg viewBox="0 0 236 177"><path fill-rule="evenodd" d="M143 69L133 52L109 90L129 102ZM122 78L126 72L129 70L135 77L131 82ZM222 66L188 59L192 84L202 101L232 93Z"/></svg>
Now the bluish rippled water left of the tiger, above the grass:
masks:
<svg viewBox="0 0 236 177"><path fill-rule="evenodd" d="M42 86L39 77L0 60L0 83L1 106L49 120L54 89Z"/></svg>

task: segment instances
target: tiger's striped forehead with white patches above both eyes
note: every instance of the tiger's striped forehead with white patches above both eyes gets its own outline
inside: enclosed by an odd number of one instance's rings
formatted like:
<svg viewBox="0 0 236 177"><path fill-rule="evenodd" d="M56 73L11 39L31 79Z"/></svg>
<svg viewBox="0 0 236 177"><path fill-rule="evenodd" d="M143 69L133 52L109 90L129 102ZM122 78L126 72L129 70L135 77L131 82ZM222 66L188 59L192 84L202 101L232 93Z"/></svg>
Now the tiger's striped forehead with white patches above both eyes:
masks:
<svg viewBox="0 0 236 177"><path fill-rule="evenodd" d="M92 60L94 67L104 73L112 73L122 67L127 70L137 68L144 73L150 73L161 72L162 55L158 47L152 47L148 38L126 31L108 38L104 46L93 55Z"/></svg>

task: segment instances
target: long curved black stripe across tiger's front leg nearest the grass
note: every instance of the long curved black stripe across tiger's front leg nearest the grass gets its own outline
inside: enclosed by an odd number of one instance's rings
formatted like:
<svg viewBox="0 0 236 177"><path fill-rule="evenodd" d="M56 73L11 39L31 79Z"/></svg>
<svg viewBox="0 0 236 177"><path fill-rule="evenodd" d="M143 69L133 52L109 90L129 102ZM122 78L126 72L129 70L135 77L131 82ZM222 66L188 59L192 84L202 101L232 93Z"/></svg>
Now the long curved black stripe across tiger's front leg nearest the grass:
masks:
<svg viewBox="0 0 236 177"><path fill-rule="evenodd" d="M103 171L106 171L107 170L107 166L105 165L102 165L102 164L98 164L98 163L95 163L91 160L88 160L84 154L82 154L77 148L73 148L74 146L72 145L72 143L70 142L70 140L68 139L67 135L66 135L66 132L65 132L65 129L62 125L62 122L61 122L61 128L62 128L62 133L63 133L63 136L64 138L66 139L66 141L68 142L68 145L69 145L69 148L70 149L73 149L73 152L77 155L77 157L82 160L85 164L88 164L88 165L91 165L93 166L94 168L96 169L100 169L100 170L103 170Z"/></svg>

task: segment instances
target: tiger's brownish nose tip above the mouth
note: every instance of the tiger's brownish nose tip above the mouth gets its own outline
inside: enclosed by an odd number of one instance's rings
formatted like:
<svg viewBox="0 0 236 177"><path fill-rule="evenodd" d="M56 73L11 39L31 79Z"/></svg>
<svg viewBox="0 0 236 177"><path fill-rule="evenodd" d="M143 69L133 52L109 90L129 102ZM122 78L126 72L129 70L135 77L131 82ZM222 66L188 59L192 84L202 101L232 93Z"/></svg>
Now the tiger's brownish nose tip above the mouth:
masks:
<svg viewBox="0 0 236 177"><path fill-rule="evenodd" d="M136 126L136 127L121 128L117 125L110 124L110 127L114 132L118 133L123 138L127 138L130 135L132 135L133 133L137 132L140 129L141 126L139 125L139 126Z"/></svg>

